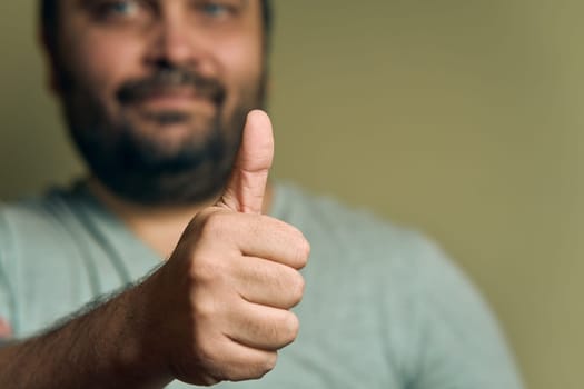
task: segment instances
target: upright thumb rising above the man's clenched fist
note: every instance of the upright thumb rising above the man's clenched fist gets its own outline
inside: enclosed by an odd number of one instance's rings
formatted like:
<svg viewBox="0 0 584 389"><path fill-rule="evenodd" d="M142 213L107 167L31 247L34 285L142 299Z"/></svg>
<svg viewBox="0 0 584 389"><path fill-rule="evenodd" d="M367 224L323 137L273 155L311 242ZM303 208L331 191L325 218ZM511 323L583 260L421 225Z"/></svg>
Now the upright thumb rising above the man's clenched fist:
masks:
<svg viewBox="0 0 584 389"><path fill-rule="evenodd" d="M261 213L274 159L274 134L266 112L248 113L231 177L217 206L244 213Z"/></svg>

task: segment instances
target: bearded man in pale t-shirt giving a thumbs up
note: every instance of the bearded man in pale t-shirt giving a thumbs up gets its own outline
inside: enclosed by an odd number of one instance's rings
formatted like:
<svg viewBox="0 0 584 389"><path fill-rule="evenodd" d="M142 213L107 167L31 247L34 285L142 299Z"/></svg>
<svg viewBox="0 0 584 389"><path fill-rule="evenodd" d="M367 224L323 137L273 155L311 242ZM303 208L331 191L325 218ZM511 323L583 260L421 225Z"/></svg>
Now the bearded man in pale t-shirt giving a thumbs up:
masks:
<svg viewBox="0 0 584 389"><path fill-rule="evenodd" d="M91 174L0 211L0 387L521 387L435 246L267 182L268 6L42 2Z"/></svg>

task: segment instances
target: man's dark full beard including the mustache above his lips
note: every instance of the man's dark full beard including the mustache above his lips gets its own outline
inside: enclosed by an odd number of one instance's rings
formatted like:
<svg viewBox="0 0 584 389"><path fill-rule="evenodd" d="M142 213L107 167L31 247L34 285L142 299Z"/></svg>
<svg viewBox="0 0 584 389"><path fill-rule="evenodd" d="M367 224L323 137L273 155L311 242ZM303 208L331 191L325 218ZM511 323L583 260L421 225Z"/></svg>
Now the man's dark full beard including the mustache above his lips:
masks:
<svg viewBox="0 0 584 389"><path fill-rule="evenodd" d="M109 114L91 89L76 81L72 74L60 77L71 138L106 188L141 205L195 205L217 196L231 172L247 113L264 106L265 74L254 88L240 91L229 114L226 88L189 69L167 67L123 83L116 93L118 114ZM214 114L167 109L137 118L126 109L172 88L189 88L212 104ZM176 124L188 128L186 136L178 142L164 138Z"/></svg>

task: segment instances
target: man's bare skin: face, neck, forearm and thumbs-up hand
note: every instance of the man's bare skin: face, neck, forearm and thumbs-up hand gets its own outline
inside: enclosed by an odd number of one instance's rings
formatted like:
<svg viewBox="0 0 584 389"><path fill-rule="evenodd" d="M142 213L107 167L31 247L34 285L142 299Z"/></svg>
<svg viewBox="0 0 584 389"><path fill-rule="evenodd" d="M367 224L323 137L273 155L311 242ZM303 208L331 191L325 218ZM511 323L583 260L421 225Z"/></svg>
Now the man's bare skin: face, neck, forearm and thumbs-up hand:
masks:
<svg viewBox="0 0 584 389"><path fill-rule="evenodd" d="M249 1L240 20L208 31L189 3L156 1L164 17L146 17L146 24L95 26L80 1L65 1L61 12L70 18L62 39L71 46L71 69L87 74L87 87L109 102L111 114L116 87L146 71L154 58L192 61L217 74L229 90L226 111L248 80L257 80L263 62L259 3ZM201 117L214 109L180 96L140 107L168 108ZM194 129L204 127L140 127L145 137L168 144ZM230 178L217 199L145 208L93 181L97 196L161 255L170 252L169 259L143 282L88 313L0 349L0 387L156 388L172 379L212 385L271 370L277 351L298 333L290 309L301 300L298 270L309 255L299 230L261 213L273 158L271 123L255 110L247 116ZM158 232L165 239L156 240Z"/></svg>

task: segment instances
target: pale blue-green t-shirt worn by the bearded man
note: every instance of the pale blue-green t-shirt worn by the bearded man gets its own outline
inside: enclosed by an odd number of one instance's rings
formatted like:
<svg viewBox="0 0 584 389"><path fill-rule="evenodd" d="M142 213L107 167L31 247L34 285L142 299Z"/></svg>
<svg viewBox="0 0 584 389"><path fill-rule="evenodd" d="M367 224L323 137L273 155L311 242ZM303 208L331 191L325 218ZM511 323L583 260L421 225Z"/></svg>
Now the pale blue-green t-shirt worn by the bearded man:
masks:
<svg viewBox="0 0 584 389"><path fill-rule="evenodd" d="M300 332L261 380L220 388L522 387L485 302L434 243L290 184L274 199L311 245ZM160 260L83 184L4 205L0 317L30 336Z"/></svg>

